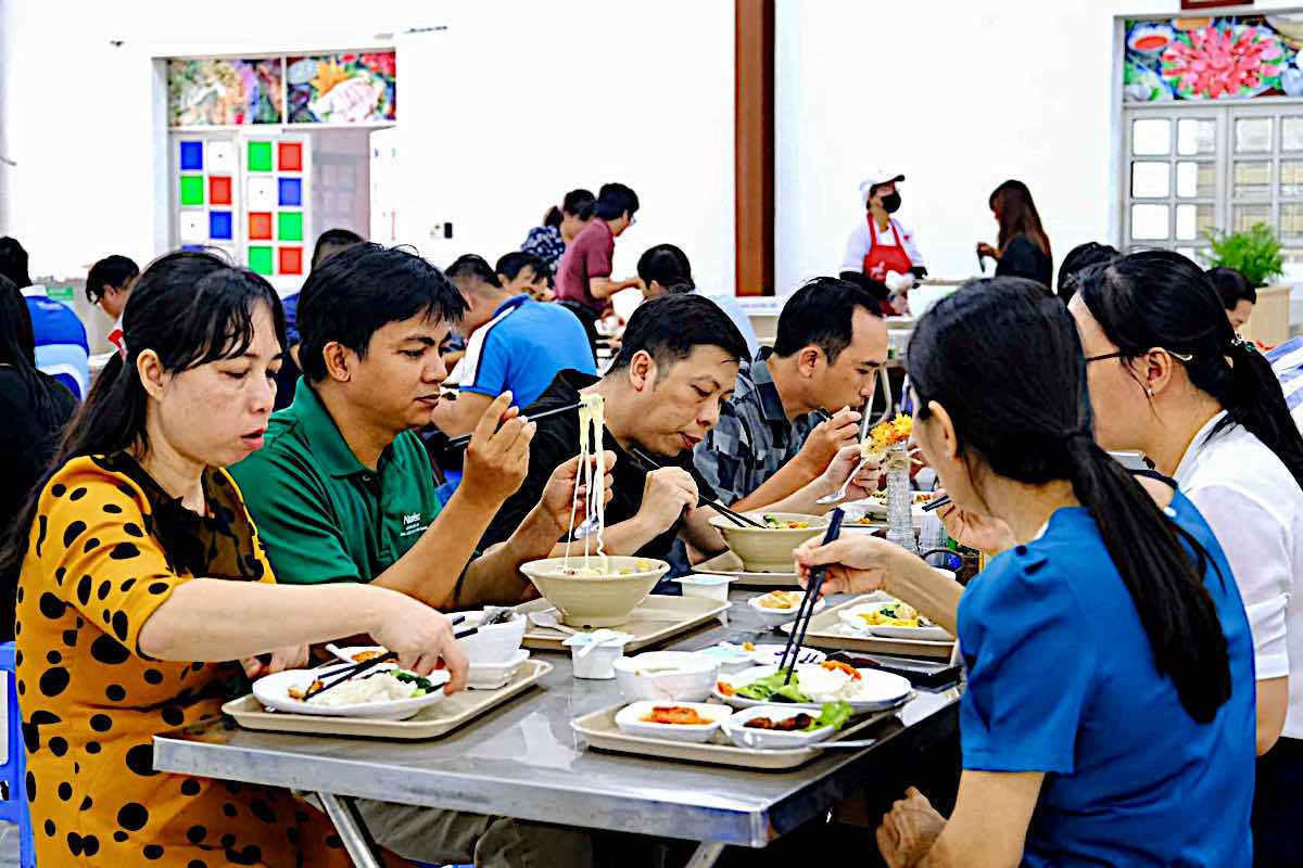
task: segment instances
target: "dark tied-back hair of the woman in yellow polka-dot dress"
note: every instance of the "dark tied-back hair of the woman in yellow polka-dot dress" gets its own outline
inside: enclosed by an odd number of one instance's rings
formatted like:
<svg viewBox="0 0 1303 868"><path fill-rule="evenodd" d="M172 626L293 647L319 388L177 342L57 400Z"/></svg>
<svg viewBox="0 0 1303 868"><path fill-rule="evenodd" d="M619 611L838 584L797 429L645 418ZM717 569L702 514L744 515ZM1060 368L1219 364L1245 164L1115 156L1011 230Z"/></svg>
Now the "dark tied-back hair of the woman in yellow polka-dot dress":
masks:
<svg viewBox="0 0 1303 868"><path fill-rule="evenodd" d="M276 338L284 347L280 298L251 271L235 268L210 252L165 254L145 269L122 315L126 358L113 354L68 424L51 470L10 528L0 554L0 574L21 565L36 501L55 470L82 455L149 450L149 396L136 367L139 354L154 350L168 372L242 355L253 344L253 319L262 305L271 307Z"/></svg>

